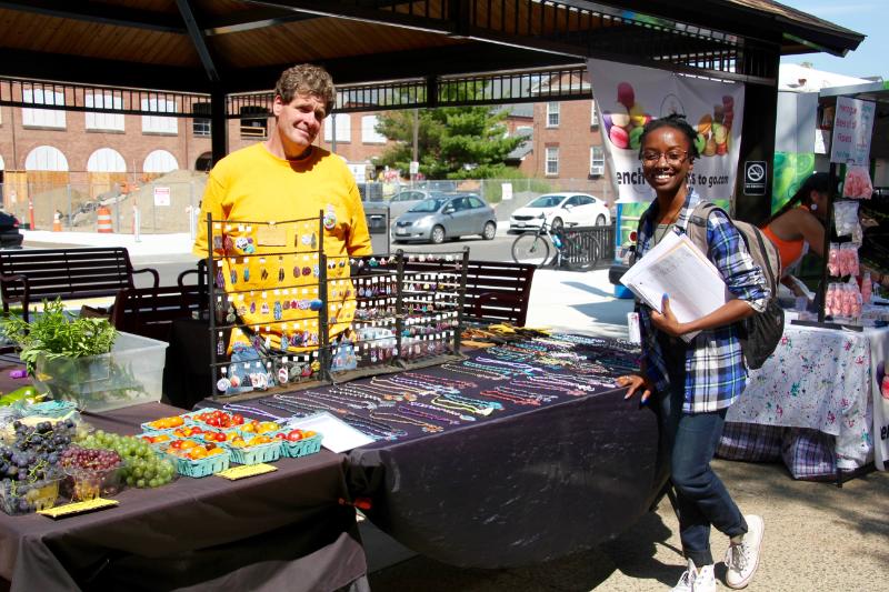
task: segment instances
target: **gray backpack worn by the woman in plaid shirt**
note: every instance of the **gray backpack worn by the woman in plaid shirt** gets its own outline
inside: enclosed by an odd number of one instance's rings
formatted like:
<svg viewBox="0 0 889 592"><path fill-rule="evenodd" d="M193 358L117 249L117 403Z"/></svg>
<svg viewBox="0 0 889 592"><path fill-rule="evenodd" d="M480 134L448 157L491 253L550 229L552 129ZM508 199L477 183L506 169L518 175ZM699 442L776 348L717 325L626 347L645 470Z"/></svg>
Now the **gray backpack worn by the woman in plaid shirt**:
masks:
<svg viewBox="0 0 889 592"><path fill-rule="evenodd" d="M712 203L701 202L695 207L689 218L686 233L702 253L707 254L707 219L720 208ZM728 214L727 218L731 219ZM761 368L769 355L778 347L785 330L785 311L778 304L778 281L781 278L781 258L778 249L760 229L749 222L731 220L743 238L747 250L753 262L762 269L766 283L771 290L771 298L766 310L757 312L740 322L740 341L743 358L750 369Z"/></svg>

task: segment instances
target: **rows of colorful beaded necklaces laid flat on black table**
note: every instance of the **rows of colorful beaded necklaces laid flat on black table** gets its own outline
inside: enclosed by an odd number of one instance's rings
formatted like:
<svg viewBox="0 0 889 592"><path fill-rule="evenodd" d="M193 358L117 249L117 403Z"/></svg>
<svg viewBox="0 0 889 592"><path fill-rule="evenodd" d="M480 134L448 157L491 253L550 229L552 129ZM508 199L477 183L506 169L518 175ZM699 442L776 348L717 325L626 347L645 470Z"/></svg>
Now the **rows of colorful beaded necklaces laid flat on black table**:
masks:
<svg viewBox="0 0 889 592"><path fill-rule="evenodd" d="M638 364L631 344L553 334L422 370L272 394L237 411L284 421L329 412L374 440L401 441L611 391Z"/></svg>

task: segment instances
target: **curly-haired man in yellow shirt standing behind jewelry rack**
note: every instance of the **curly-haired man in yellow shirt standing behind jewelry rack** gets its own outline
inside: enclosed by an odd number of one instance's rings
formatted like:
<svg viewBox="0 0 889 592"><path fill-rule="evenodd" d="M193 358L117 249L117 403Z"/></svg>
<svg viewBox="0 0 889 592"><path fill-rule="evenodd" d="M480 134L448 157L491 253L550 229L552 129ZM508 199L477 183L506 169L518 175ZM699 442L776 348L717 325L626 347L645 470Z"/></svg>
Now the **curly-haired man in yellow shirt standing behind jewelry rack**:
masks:
<svg viewBox="0 0 889 592"><path fill-rule="evenodd" d="M332 339L352 321L349 259L372 250L354 177L343 159L313 146L334 102L324 69L287 69L274 88L269 139L232 152L210 171L193 252L213 251L219 264L213 278L230 294L222 312L238 319L230 350L241 357L253 359L252 351L244 352L250 349L317 349L321 331ZM216 221L212 244L208 213ZM327 287L319 287L321 238L329 258ZM328 328L319 327L318 314L324 289Z"/></svg>

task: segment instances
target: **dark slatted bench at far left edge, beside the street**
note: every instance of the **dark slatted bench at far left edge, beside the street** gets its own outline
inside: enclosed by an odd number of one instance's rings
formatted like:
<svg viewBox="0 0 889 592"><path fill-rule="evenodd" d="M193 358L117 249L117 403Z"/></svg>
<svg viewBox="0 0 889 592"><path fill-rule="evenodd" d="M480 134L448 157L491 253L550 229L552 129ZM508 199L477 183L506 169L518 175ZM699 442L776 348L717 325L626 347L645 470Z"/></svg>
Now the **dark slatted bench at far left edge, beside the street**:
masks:
<svg viewBox="0 0 889 592"><path fill-rule="evenodd" d="M31 302L117 295L134 288L134 273L150 273L158 287L158 272L133 270L123 247L0 251L3 313L9 313L10 304L21 303L28 321Z"/></svg>

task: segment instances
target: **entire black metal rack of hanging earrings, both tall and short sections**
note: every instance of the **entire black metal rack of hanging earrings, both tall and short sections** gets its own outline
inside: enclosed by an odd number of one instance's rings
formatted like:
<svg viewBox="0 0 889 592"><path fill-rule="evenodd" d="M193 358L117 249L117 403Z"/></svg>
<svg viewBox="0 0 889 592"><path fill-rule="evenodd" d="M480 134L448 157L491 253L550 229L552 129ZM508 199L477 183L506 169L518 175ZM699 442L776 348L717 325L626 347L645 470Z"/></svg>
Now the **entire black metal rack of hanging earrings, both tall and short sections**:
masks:
<svg viewBox="0 0 889 592"><path fill-rule="evenodd" d="M294 227L291 249L281 237ZM308 230L301 234L300 227ZM231 232L238 234L237 244ZM257 253L252 239L244 237L260 232L278 237L273 244L280 248ZM323 211L317 219L276 222L231 222L208 214L207 235L213 400L254 399L329 384L334 375L342 382L462 359L469 249L329 257ZM416 261L427 264L411 269ZM348 275L333 272L347 265ZM261 273L260 288L249 284L253 273ZM309 275L314 281L300 281ZM314 311L317 319L288 319L290 308ZM257 311L261 321L256 321ZM343 324L348 327L331 339L330 330ZM243 351L249 359L236 359Z"/></svg>

